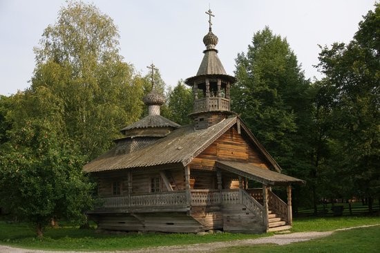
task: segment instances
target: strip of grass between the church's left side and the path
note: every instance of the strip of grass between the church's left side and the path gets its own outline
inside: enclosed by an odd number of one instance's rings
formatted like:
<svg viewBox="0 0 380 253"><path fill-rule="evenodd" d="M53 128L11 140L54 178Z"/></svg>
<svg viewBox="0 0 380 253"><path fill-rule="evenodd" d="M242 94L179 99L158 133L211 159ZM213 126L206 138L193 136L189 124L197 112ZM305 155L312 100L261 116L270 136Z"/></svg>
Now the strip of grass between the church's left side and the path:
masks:
<svg viewBox="0 0 380 253"><path fill-rule="evenodd" d="M76 227L48 228L44 238L37 238L35 231L25 223L9 224L0 221L0 244L40 250L131 250L143 247L211 243L246 238L258 238L271 234L101 234L95 229Z"/></svg>

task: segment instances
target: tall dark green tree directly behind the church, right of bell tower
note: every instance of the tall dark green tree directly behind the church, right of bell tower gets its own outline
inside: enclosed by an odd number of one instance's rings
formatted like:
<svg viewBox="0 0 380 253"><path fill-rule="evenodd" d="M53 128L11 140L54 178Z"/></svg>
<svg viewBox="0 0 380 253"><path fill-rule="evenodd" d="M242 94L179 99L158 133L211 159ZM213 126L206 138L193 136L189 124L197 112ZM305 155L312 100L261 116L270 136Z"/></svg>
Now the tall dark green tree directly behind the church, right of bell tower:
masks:
<svg viewBox="0 0 380 253"><path fill-rule="evenodd" d="M292 152L289 134L297 131L309 83L287 41L268 27L256 32L248 52L238 54L235 74L234 111L275 156Z"/></svg>

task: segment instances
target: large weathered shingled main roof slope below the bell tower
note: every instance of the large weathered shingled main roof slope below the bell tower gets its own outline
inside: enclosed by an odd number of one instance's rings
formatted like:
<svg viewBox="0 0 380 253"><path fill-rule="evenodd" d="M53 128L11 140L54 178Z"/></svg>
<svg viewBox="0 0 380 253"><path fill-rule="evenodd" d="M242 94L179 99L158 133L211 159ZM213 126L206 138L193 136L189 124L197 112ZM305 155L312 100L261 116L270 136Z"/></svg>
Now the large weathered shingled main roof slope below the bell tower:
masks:
<svg viewBox="0 0 380 253"><path fill-rule="evenodd" d="M227 118L213 127L202 130L195 130L192 125L182 127L132 153L117 155L117 147L114 147L84 165L84 171L109 171L175 163L186 166L192 158L209 147L211 142L236 124L236 120L236 116Z"/></svg>

